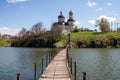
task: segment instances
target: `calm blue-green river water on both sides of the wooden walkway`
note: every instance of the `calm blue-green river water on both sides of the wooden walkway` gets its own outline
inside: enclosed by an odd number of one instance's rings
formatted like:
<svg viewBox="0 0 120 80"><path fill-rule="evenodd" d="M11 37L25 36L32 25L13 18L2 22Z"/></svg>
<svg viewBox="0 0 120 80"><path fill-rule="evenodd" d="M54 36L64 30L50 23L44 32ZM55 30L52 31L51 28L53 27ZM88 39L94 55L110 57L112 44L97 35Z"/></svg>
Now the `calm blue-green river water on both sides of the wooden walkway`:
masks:
<svg viewBox="0 0 120 80"><path fill-rule="evenodd" d="M0 47L0 80L16 80L17 73L21 80L33 80L35 62L38 79L41 59L49 50ZM70 56L77 63L77 80L82 80L82 72L87 73L87 80L120 80L120 49L71 49Z"/></svg>

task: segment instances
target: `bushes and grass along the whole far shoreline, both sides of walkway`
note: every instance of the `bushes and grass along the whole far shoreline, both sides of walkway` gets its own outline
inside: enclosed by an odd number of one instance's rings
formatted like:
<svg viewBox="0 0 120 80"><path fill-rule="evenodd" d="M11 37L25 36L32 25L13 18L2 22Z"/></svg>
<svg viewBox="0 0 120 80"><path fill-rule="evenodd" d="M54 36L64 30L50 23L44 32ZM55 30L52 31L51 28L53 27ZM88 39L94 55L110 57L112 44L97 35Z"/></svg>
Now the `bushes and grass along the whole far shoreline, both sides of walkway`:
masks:
<svg viewBox="0 0 120 80"><path fill-rule="evenodd" d="M61 38L39 37L22 40L0 40L0 46L56 48L66 47L67 36ZM11 44L11 45L10 45ZM71 32L71 47L73 48L120 48L120 32Z"/></svg>

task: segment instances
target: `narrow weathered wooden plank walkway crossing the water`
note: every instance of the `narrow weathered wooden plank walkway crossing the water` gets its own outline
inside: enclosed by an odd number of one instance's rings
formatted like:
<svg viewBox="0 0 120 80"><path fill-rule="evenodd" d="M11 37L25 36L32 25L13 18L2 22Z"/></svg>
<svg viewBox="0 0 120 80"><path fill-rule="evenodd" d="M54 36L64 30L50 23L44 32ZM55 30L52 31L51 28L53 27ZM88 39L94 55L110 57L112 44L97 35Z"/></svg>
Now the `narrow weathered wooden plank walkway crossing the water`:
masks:
<svg viewBox="0 0 120 80"><path fill-rule="evenodd" d="M39 80L71 80L66 49L60 51L50 62Z"/></svg>

